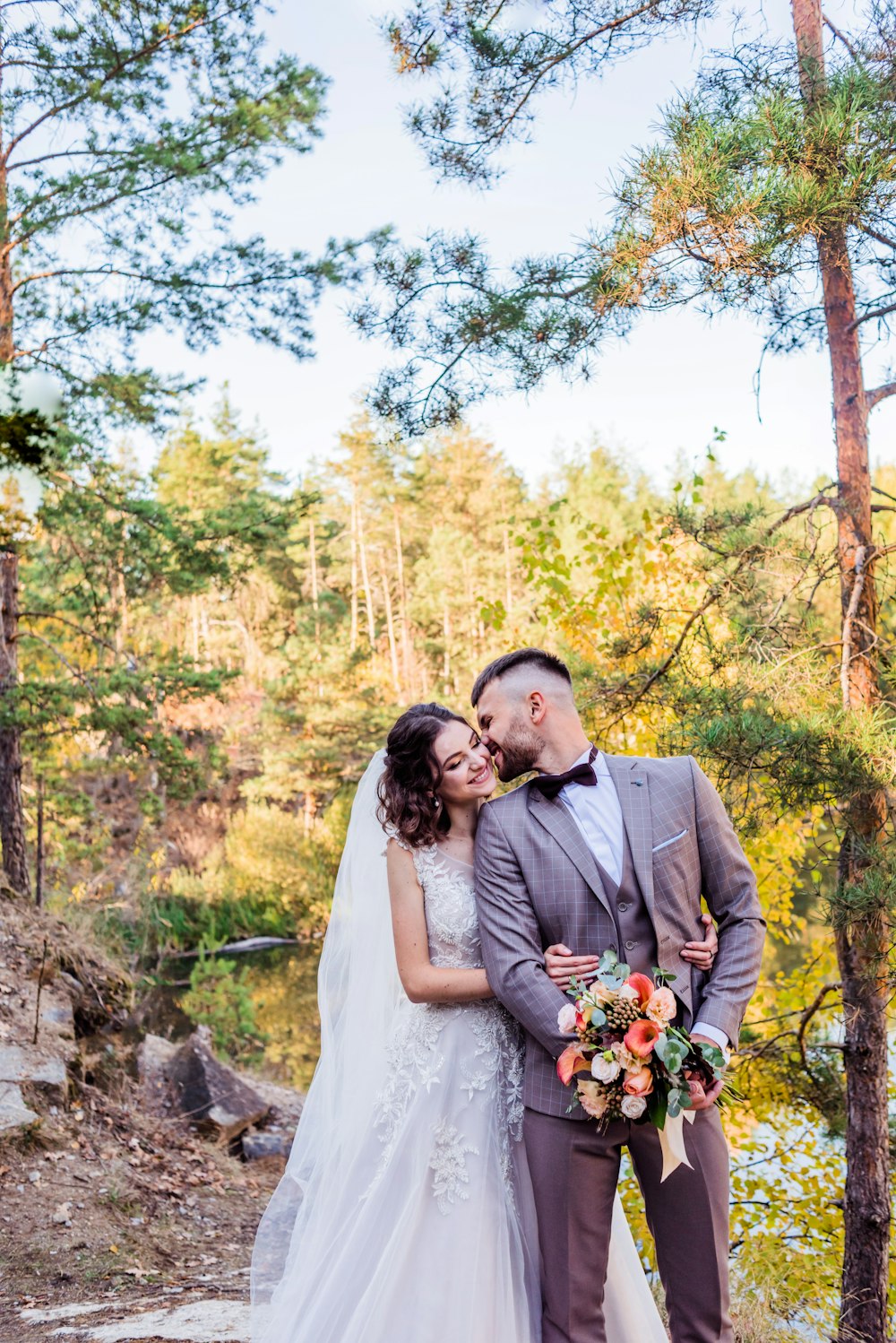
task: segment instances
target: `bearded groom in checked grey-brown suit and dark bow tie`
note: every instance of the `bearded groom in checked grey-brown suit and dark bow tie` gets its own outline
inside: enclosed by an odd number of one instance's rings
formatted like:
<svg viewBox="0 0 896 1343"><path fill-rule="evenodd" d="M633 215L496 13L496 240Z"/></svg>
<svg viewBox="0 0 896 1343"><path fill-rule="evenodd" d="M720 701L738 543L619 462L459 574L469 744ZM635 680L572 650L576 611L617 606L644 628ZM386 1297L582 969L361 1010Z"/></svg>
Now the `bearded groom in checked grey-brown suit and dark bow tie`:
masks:
<svg viewBox="0 0 896 1343"><path fill-rule="evenodd" d="M498 658L472 690L502 780L538 776L488 803L476 833L483 958L498 998L526 1030L524 1135L542 1252L543 1343L605 1343L604 1280L621 1148L632 1155L673 1343L731 1343L728 1155L715 1100L693 1084L692 1168L660 1182L656 1128L606 1131L569 1113L557 1076L569 998L543 948L613 947L632 970L679 968L672 988L693 1038L735 1045L765 937L757 882L722 799L691 756L605 756L589 743L566 666L541 649ZM700 897L719 929L711 978L681 967L700 935Z"/></svg>

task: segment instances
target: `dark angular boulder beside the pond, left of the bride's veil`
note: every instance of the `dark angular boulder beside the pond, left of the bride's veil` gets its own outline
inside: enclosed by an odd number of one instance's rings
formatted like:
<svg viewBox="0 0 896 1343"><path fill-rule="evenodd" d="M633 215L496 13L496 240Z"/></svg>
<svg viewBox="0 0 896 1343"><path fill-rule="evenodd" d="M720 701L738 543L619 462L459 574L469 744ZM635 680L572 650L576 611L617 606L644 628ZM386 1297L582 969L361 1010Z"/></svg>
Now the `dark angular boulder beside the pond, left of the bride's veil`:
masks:
<svg viewBox="0 0 896 1343"><path fill-rule="evenodd" d="M264 1119L270 1107L232 1068L217 1061L209 1042L211 1031L200 1026L165 1070L181 1115L229 1143Z"/></svg>

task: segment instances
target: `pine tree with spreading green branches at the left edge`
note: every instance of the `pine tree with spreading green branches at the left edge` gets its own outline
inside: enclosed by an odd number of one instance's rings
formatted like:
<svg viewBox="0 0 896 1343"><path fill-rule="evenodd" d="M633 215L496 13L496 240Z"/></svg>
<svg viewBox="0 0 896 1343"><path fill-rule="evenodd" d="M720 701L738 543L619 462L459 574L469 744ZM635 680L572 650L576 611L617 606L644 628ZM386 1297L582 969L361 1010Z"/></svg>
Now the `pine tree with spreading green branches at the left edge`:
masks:
<svg viewBox="0 0 896 1343"><path fill-rule="evenodd" d="M303 357L311 305L345 267L337 247L313 259L235 231L264 173L311 146L325 91L311 66L267 55L258 16L252 0L0 4L0 365L52 371L94 445L103 416L150 423L184 389L141 367L141 336L180 328L203 349L243 332ZM21 458L19 420L0 420L7 459ZM15 677L5 657L0 698ZM20 747L4 721L0 837L27 886Z"/></svg>

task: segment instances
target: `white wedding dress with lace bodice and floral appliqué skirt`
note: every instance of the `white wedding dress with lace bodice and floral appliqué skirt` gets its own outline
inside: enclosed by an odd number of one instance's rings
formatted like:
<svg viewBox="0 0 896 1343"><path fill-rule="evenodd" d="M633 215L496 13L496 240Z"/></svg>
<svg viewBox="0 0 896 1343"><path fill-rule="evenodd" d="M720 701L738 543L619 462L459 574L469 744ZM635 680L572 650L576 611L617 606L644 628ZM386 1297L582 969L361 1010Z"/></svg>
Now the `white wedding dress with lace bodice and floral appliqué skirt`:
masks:
<svg viewBox="0 0 896 1343"><path fill-rule="evenodd" d="M382 833L355 885L370 886L381 847ZM482 967L472 869L436 846L414 850L413 860L433 966ZM369 915L365 907L355 896L355 921ZM538 1343L518 1026L495 999L416 1005L396 992L380 1041L374 958L385 950L373 944L378 929L366 932L353 958L359 1010L334 1031L337 1053L347 1045L347 1066L337 1081L322 1058L290 1167L259 1232L254 1343ZM325 1025L333 1013L326 968L322 962ZM347 1010L343 999L339 1006ZM373 1053L382 1050L373 1069L368 1030ZM605 1309L609 1343L665 1343L618 1201Z"/></svg>

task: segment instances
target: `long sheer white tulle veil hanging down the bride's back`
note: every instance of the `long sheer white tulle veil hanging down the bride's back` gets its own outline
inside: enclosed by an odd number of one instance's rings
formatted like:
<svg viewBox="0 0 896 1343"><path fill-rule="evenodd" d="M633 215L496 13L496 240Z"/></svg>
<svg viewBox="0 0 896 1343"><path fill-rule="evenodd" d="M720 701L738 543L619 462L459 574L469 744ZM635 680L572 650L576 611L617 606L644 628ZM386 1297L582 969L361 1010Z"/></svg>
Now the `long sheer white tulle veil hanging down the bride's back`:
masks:
<svg viewBox="0 0 896 1343"><path fill-rule="evenodd" d="M377 818L385 752L368 766L351 806L318 974L321 1061L290 1160L258 1232L252 1253L252 1340L270 1343L278 1287L290 1277L306 1237L327 1233L327 1209L350 1158L370 1131L386 1077L386 1044L401 983L396 967L386 837Z"/></svg>

